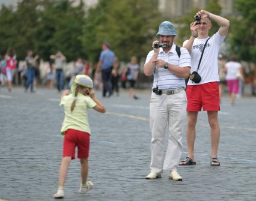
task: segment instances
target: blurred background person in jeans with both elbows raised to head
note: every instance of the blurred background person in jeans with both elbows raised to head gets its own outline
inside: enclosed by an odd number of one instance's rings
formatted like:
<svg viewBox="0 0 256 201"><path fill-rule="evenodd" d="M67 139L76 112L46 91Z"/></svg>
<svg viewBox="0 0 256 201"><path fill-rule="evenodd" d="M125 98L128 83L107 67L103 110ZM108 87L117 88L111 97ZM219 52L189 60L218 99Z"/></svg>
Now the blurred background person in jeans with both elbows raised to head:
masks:
<svg viewBox="0 0 256 201"><path fill-rule="evenodd" d="M56 87L61 92L64 89L64 63L67 59L61 51L58 51L56 55L50 55L50 59L54 60Z"/></svg>

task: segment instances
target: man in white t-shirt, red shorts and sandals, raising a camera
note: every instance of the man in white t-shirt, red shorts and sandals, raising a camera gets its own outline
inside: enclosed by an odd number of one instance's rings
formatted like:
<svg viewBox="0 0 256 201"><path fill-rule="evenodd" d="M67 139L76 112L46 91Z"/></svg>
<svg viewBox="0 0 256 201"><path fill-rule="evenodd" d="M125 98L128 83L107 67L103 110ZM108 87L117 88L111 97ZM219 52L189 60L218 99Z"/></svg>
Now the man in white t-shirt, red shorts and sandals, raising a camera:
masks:
<svg viewBox="0 0 256 201"><path fill-rule="evenodd" d="M203 107L207 111L208 121L211 128L212 140L212 157L211 166L219 166L218 145L219 145L219 74L218 74L218 52L221 43L224 41L230 26L229 20L224 17L209 13L208 11L198 11L197 16L200 17L199 23L192 22L190 24L189 40L184 47L190 52L192 67L190 73L197 71L201 76L201 81L195 83L189 80L187 83L187 157L180 162L180 165L195 164L194 160L194 144L195 144L195 125L197 124L198 112ZM219 26L216 32L209 39L209 29L212 28L211 19ZM209 39L209 40L208 40ZM207 41L208 40L208 41ZM207 43L206 43L207 41ZM198 64L204 45L206 44L200 67Z"/></svg>

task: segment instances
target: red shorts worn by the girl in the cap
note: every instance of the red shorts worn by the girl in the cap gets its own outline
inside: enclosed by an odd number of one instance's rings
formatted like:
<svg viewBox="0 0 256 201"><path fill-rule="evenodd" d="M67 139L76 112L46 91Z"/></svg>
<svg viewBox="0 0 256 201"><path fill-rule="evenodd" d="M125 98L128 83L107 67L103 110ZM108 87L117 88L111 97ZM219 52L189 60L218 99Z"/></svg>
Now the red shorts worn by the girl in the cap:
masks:
<svg viewBox="0 0 256 201"><path fill-rule="evenodd" d="M84 131L68 129L64 136L62 157L75 159L76 146L78 147L78 158L88 158L90 134Z"/></svg>

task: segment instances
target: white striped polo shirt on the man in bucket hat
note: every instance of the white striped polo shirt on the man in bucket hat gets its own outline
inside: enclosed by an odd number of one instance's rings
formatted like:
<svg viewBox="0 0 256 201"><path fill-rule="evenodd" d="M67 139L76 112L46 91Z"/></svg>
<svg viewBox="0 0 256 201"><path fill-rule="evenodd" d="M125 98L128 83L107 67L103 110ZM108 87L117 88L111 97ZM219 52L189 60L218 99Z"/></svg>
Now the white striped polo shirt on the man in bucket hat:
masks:
<svg viewBox="0 0 256 201"><path fill-rule="evenodd" d="M165 53L163 51L163 48L160 47L160 51L157 59L162 59L163 61L168 62L169 64L176 65L181 68L191 67L191 58L187 49L185 49L184 47L180 47L181 54L180 54L180 58L178 58L178 54L175 48L176 48L176 45L172 44L171 50ZM148 53L145 64L147 64L147 62L150 61L153 54L154 54L154 50L151 50ZM178 88L185 88L186 84L185 84L184 78L175 76L175 74L172 73L172 71L169 71L165 68L155 68L153 88L155 88L156 86L158 86L159 89L173 90Z"/></svg>

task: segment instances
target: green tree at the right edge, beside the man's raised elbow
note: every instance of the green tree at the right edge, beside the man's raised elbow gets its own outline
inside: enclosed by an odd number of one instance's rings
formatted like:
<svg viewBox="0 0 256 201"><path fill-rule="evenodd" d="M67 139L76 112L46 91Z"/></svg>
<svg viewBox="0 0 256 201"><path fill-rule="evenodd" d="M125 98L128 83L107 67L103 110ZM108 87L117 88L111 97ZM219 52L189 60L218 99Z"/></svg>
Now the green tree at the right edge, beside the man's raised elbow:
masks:
<svg viewBox="0 0 256 201"><path fill-rule="evenodd" d="M256 62L256 1L235 0L234 5L239 13L231 19L231 52L244 61Z"/></svg>

